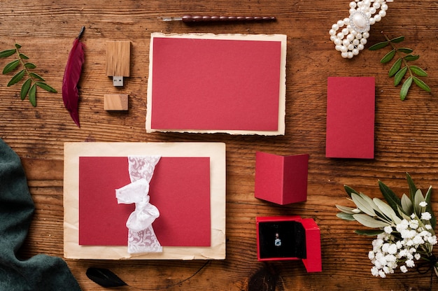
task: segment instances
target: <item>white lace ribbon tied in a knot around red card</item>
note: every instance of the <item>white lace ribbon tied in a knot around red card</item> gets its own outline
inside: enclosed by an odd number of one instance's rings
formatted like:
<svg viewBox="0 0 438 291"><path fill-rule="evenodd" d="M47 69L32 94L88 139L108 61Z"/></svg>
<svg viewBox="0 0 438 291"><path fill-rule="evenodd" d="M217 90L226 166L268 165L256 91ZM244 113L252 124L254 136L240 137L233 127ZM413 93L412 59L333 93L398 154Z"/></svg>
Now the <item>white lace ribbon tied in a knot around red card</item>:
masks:
<svg viewBox="0 0 438 291"><path fill-rule="evenodd" d="M115 190L119 204L135 203L134 212L126 222L128 253L161 253L162 246L155 236L152 223L160 216L158 208L149 203L149 183L160 156L128 157L132 183Z"/></svg>

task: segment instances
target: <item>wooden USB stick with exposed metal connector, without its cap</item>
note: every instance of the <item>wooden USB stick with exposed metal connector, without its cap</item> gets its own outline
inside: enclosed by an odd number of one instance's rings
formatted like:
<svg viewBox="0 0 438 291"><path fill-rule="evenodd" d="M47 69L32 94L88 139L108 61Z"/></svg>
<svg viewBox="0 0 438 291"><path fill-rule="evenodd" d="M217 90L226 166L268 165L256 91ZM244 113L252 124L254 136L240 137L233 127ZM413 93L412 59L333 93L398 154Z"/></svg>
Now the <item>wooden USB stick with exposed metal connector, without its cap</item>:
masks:
<svg viewBox="0 0 438 291"><path fill-rule="evenodd" d="M123 86L123 77L129 77L130 41L106 42L106 76L113 77L114 86Z"/></svg>

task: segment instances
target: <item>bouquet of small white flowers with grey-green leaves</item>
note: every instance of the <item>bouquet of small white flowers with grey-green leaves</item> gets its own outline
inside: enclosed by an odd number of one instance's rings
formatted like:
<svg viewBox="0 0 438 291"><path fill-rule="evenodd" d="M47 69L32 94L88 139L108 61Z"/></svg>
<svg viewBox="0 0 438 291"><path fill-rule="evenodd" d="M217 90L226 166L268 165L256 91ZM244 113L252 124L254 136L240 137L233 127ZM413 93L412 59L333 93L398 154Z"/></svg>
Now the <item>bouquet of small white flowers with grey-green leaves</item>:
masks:
<svg viewBox="0 0 438 291"><path fill-rule="evenodd" d="M432 248L438 242L434 232L436 219L430 205L432 187L423 196L409 174L407 180L410 197L403 194L402 199L399 199L389 187L379 181L381 192L388 204L344 186L357 207L337 205L341 211L337 214L339 218L355 220L373 228L356 230L356 233L377 235L372 242L373 249L368 253L369 260L374 265L371 269L374 276L386 278L397 267L406 273L408 268L416 267L418 260L430 262ZM432 267L438 269L436 265Z"/></svg>

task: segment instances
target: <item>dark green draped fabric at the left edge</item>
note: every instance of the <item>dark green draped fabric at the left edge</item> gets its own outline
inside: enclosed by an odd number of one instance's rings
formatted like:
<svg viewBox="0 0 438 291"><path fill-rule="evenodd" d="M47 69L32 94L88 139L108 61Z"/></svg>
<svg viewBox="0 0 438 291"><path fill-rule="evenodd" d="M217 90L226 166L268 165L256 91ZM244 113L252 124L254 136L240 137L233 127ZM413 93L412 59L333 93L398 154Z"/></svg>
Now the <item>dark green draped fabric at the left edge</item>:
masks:
<svg viewBox="0 0 438 291"><path fill-rule="evenodd" d="M0 139L0 290L80 290L62 258L17 258L34 208L20 158Z"/></svg>

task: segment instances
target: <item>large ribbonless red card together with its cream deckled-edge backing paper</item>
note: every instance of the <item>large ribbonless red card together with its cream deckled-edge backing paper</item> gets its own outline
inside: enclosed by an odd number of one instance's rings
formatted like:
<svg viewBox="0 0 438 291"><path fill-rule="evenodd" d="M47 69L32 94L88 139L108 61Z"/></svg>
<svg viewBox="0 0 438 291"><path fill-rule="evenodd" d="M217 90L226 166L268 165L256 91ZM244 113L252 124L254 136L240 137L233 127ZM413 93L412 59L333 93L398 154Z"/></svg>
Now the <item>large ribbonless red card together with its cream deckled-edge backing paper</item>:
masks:
<svg viewBox="0 0 438 291"><path fill-rule="evenodd" d="M148 132L284 134L284 35L151 35Z"/></svg>

